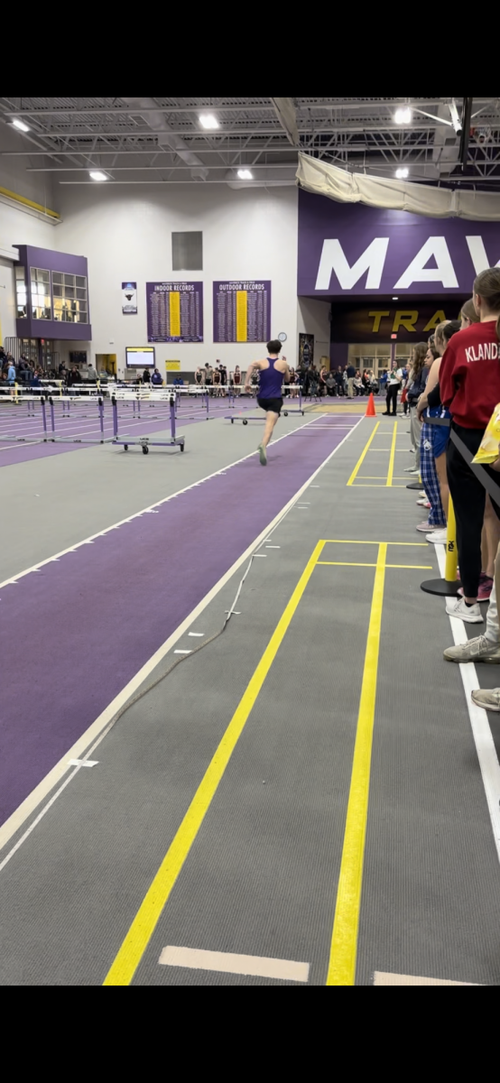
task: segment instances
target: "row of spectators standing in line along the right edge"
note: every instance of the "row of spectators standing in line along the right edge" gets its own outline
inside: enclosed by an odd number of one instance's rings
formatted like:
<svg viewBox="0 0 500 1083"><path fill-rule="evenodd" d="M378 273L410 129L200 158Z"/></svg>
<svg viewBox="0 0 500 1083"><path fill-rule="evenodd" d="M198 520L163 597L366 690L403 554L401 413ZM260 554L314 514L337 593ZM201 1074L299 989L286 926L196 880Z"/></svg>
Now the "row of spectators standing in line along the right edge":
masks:
<svg viewBox="0 0 500 1083"><path fill-rule="evenodd" d="M413 348L406 376L394 364L386 415L396 412L399 390L406 393L415 455L407 472L421 478L417 504L427 512L417 530L431 543L446 543L450 501L453 506L462 585L457 583L446 612L465 624L483 624L479 603L488 602L485 634L446 648L444 656L500 663L500 444L492 464L472 462L500 403L500 268L481 272L459 318L443 321ZM500 712L500 688L471 694L478 706Z"/></svg>

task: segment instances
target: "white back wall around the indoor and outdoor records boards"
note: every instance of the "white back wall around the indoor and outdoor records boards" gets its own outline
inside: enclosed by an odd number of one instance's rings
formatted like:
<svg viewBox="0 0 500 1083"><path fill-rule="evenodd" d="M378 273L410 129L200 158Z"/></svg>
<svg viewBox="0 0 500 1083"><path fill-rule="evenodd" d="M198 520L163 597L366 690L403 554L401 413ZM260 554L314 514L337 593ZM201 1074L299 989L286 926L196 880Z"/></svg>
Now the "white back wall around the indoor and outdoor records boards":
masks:
<svg viewBox="0 0 500 1083"><path fill-rule="evenodd" d="M122 373L126 347L147 344L146 282L201 279L205 342L158 343L158 368L165 376L165 361L179 360L184 371L192 371L215 358L245 368L262 355L262 345L213 344L212 282L269 278L272 335L286 332L284 353L290 363L297 361L297 188L235 192L202 182L184 188L61 186L57 209L63 222L51 247L89 260L93 357L116 353ZM202 231L202 271L172 272L171 233L176 230ZM122 282L137 283L136 316L121 314ZM63 344L56 349L62 356Z"/></svg>

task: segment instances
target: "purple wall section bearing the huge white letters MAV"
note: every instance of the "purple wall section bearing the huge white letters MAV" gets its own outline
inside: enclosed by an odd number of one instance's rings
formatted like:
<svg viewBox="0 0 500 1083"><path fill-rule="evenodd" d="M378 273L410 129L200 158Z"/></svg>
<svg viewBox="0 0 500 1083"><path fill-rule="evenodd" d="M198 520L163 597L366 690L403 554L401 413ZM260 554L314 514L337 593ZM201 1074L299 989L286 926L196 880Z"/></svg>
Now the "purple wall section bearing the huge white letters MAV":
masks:
<svg viewBox="0 0 500 1083"><path fill-rule="evenodd" d="M371 256L364 257L372 243ZM353 270L358 260L359 273ZM299 296L470 297L475 275L498 260L499 222L423 218L299 191ZM410 272L413 261L420 270ZM324 280L316 289L320 264ZM400 284L405 274L413 280Z"/></svg>

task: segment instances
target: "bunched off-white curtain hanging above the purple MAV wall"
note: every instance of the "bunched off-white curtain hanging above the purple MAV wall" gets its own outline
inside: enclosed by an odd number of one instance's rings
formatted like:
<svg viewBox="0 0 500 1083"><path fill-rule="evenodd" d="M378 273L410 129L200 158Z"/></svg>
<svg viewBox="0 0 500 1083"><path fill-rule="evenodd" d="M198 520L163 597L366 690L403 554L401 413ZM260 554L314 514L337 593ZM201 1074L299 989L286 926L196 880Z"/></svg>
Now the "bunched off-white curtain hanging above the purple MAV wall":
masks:
<svg viewBox="0 0 500 1083"><path fill-rule="evenodd" d="M385 210L408 210L426 218L500 221L500 195L488 192L451 192L427 184L348 173L305 154L299 154L295 175L301 188L338 203L363 203Z"/></svg>

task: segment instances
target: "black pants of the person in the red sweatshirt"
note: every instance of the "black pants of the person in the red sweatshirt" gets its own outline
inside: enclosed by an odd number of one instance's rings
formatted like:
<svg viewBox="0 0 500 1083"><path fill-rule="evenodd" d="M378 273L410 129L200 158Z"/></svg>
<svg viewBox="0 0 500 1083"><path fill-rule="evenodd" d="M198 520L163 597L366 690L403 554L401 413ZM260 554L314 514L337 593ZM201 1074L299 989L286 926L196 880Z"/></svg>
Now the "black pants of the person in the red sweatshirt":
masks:
<svg viewBox="0 0 500 1083"><path fill-rule="evenodd" d="M484 430L464 429L461 425L456 425L455 421L452 429L469 451L475 455ZM488 466L483 466L483 469L497 484L500 483L500 473L491 470L491 467ZM485 518L486 490L452 440L449 441L446 453L446 470L457 520L457 548L463 593L465 598L476 598L481 575L481 534ZM491 500L491 504L500 519L500 506L495 500Z"/></svg>

